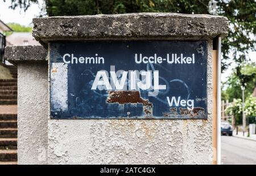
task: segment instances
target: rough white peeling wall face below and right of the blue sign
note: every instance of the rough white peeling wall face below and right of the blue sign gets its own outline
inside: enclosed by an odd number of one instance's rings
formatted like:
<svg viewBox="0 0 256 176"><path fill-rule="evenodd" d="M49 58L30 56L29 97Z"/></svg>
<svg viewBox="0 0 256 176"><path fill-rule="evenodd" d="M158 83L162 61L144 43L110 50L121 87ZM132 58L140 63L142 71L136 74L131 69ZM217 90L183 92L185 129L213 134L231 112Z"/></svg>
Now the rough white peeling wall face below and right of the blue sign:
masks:
<svg viewBox="0 0 256 176"><path fill-rule="evenodd" d="M212 164L208 43L208 119L48 119L48 164Z"/></svg>

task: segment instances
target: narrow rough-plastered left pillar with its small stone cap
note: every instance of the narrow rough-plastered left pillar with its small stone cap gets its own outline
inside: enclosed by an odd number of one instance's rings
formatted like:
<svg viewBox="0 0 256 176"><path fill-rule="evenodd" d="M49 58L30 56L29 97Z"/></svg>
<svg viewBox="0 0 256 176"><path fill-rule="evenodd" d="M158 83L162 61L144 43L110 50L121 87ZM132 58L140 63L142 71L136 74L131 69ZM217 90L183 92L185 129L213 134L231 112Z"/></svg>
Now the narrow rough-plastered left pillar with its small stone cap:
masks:
<svg viewBox="0 0 256 176"><path fill-rule="evenodd" d="M18 65L18 164L47 164L46 50L43 46L10 46L6 53Z"/></svg>

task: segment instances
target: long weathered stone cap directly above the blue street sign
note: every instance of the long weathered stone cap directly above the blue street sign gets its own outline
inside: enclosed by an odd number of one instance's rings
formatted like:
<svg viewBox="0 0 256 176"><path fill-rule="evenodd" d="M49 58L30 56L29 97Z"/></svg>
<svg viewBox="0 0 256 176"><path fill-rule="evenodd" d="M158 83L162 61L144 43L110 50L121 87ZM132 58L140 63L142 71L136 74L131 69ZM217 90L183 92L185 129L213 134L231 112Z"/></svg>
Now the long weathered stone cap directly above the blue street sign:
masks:
<svg viewBox="0 0 256 176"><path fill-rule="evenodd" d="M55 16L33 19L33 36L52 40L203 39L228 34L228 19L216 15L138 13Z"/></svg>

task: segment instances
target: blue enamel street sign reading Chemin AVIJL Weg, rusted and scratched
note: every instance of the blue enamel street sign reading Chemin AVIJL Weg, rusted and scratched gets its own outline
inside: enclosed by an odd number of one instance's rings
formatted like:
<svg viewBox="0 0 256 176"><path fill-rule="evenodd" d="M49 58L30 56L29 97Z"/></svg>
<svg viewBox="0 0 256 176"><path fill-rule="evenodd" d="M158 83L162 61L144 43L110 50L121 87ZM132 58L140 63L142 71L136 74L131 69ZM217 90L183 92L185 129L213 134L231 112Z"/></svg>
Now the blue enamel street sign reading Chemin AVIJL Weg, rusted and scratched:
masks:
<svg viewBox="0 0 256 176"><path fill-rule="evenodd" d="M50 43L53 119L206 119L207 41Z"/></svg>

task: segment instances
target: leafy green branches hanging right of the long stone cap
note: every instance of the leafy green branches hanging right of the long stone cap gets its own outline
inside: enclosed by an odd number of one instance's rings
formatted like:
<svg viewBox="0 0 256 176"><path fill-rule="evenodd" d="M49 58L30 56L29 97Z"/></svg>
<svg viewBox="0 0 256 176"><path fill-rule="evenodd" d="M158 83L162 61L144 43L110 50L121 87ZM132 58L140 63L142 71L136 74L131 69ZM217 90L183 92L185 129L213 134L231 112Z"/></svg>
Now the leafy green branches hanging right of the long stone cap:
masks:
<svg viewBox="0 0 256 176"><path fill-rule="evenodd" d="M219 1L219 6L219 14L226 16L230 24L228 37L223 38L222 41L224 56L222 68L226 68L232 61L241 65L241 63L249 60L248 51L256 50L256 1ZM229 58L230 53L232 54L231 58Z"/></svg>

